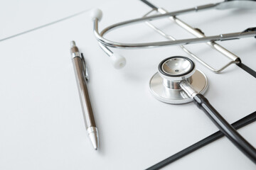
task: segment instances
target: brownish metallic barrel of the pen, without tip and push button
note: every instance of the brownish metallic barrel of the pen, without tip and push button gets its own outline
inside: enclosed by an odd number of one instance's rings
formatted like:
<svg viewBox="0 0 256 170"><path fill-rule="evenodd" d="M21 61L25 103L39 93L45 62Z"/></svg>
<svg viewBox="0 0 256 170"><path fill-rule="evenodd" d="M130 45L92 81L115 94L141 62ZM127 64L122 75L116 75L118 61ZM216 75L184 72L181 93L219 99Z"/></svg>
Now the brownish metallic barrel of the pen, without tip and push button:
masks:
<svg viewBox="0 0 256 170"><path fill-rule="evenodd" d="M80 57L73 58L73 66L75 70L75 79L78 85L78 92L82 106L82 115L85 121L85 128L96 127L95 118L92 112L92 105L87 89L87 80L85 78L85 68Z"/></svg>

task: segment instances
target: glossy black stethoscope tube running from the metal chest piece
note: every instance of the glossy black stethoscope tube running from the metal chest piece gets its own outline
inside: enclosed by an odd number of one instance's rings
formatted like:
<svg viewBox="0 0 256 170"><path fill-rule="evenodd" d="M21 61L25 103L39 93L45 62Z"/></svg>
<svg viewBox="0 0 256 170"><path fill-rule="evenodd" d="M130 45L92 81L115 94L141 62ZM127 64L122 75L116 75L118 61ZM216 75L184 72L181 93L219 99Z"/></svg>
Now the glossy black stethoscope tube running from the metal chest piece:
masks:
<svg viewBox="0 0 256 170"><path fill-rule="evenodd" d="M250 145L236 130L233 128L218 111L210 105L209 101L202 95L197 94L193 98L194 103L203 110L206 115L215 123L223 134L233 142L233 144L240 149L248 158L256 164L256 149Z"/></svg>

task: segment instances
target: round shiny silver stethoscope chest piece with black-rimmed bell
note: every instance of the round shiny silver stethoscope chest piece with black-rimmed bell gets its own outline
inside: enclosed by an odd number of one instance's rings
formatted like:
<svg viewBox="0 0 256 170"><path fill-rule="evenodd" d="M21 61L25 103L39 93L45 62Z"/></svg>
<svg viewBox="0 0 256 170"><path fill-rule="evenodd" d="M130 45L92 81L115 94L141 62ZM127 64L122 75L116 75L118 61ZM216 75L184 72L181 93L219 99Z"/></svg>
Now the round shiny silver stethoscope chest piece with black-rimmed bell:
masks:
<svg viewBox="0 0 256 170"><path fill-rule="evenodd" d="M200 94L204 94L208 87L206 75L195 68L192 60L174 56L160 62L159 71L149 81L149 89L157 100L164 103L181 104L193 101L181 89L181 81L188 81Z"/></svg>

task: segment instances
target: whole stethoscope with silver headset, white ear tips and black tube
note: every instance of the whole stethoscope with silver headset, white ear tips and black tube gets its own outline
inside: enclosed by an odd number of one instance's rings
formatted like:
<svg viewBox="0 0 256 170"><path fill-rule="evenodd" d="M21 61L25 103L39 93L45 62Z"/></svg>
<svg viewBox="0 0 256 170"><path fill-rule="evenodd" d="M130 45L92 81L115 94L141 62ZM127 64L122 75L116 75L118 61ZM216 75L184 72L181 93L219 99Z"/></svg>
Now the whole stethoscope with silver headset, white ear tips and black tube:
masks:
<svg viewBox="0 0 256 170"><path fill-rule="evenodd" d="M99 42L100 47L107 55L110 56L112 64L115 68L120 69L126 64L126 60L122 55L114 54L109 47L117 48L145 48L145 47L161 47L166 45L186 45L196 42L215 42L219 40L233 40L238 38L246 38L256 35L255 28L248 28L239 33L228 33L214 36L203 36L201 38L190 38L184 40L168 40L163 42L144 42L144 43L122 43L113 42L103 37L105 33L114 28L125 26L131 23L138 23L142 21L151 21L157 18L177 16L182 13L191 11L201 11L209 8L233 8L245 7L255 8L255 1L250 0L236 0L223 1L217 4L208 4L204 6L197 6L196 8L188 8L181 11L171 13L164 13L155 16L146 16L144 18L137 18L130 21L123 21L108 26L101 33L98 31L98 22L102 18L102 11L95 9L92 11L92 21L94 23L95 37ZM220 129L233 144L240 149L248 158L256 164L256 149L250 145L236 130L233 128L218 111L210 105L208 100L203 96L208 87L208 80L203 72L196 69L194 62L188 57L174 56L169 57L159 64L159 69L156 74L151 77L149 81L149 89L151 94L159 101L171 104L189 103L193 101L198 108L201 108L210 120Z"/></svg>

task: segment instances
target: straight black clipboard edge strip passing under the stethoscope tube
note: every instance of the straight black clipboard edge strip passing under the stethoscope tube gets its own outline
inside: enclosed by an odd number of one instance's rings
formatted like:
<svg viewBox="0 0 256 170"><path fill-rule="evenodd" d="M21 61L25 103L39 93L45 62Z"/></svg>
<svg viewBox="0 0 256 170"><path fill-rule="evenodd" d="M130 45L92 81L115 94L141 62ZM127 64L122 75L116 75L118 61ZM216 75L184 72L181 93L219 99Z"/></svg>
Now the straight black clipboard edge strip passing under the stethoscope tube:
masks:
<svg viewBox="0 0 256 170"><path fill-rule="evenodd" d="M238 130L242 127L244 127L245 125L249 125L250 123L255 122L256 120L256 111L253 113L250 113L250 115L245 116L244 118L241 118L240 120L236 121L235 123L232 124L232 126ZM163 168L164 166L171 164L172 162L175 162L178 159L181 159L182 157L185 157L186 155L196 151L197 149L200 149L201 147L204 147L208 144L210 144L211 142L214 142L215 140L220 139L220 137L223 137L223 133L218 131L213 133L212 135L204 138L203 140L200 140L198 142L196 142L195 144L186 147L185 149L181 150L180 152L177 152L176 154L171 155L171 157L168 157L166 159L164 159L163 161L154 164L153 166L150 166L148 169L146 170L158 170Z"/></svg>

